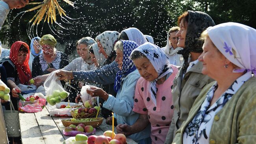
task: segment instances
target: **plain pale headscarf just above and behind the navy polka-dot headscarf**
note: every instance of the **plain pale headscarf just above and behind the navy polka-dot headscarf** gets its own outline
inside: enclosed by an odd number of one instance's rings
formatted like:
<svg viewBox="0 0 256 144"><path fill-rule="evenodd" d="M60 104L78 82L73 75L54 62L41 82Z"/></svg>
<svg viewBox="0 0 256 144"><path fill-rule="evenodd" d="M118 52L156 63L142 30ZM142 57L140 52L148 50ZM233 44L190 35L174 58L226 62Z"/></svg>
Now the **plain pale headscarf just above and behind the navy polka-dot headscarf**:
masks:
<svg viewBox="0 0 256 144"><path fill-rule="evenodd" d="M138 45L142 45L143 43L147 42L147 39L145 38L143 33L135 27L125 29L122 32L125 32L127 34L130 41L134 41Z"/></svg>

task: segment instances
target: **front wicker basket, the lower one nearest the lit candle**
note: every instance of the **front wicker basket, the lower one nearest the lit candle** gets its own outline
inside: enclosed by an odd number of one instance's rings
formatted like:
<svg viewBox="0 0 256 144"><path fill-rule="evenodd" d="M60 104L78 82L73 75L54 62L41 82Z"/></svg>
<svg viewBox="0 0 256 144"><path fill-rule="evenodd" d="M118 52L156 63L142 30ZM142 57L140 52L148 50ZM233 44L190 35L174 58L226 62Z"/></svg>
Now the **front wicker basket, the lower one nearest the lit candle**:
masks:
<svg viewBox="0 0 256 144"><path fill-rule="evenodd" d="M96 118L93 118L93 119L96 119ZM96 128L98 126L100 126L100 124L103 122L103 117L98 117L97 120L95 121L87 121L87 122L73 122L71 121L71 119L63 119L61 120L62 124L67 127L69 126L70 124L74 124L76 126L78 126L78 124L84 124L85 126L93 126L93 128Z"/></svg>

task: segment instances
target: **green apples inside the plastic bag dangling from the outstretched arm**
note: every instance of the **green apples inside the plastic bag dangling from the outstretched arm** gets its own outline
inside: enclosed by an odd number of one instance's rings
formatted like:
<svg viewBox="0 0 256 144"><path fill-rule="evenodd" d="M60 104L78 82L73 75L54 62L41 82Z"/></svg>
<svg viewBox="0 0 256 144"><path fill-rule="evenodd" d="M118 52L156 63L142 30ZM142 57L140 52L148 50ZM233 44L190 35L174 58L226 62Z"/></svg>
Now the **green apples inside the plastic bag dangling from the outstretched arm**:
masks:
<svg viewBox="0 0 256 144"><path fill-rule="evenodd" d="M59 90L54 90L52 95L46 96L46 101L54 106L56 103L60 103L62 100L64 100L69 94L64 90L60 92Z"/></svg>

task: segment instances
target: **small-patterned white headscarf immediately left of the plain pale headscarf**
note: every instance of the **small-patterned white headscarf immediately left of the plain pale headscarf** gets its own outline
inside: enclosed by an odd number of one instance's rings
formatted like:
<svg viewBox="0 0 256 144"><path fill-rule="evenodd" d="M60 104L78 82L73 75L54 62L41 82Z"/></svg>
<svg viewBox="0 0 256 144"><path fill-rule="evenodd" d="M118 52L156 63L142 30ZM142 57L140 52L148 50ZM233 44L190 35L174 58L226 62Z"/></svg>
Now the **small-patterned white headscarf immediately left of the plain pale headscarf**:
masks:
<svg viewBox="0 0 256 144"><path fill-rule="evenodd" d="M98 35L96 38L100 41L107 56L111 56L114 44L118 40L119 32L117 31L105 31Z"/></svg>

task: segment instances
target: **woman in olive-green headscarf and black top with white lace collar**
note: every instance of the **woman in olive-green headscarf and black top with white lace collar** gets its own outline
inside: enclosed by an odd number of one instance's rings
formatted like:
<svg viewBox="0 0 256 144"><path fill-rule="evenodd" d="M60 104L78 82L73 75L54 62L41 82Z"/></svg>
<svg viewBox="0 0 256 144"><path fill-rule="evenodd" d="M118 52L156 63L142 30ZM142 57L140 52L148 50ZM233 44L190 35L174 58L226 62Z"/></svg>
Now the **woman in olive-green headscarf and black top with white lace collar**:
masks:
<svg viewBox="0 0 256 144"><path fill-rule="evenodd" d="M32 63L32 77L49 74L56 69L64 68L69 64L66 54L56 50L56 39L46 34L42 36L40 45L43 52L35 56Z"/></svg>

